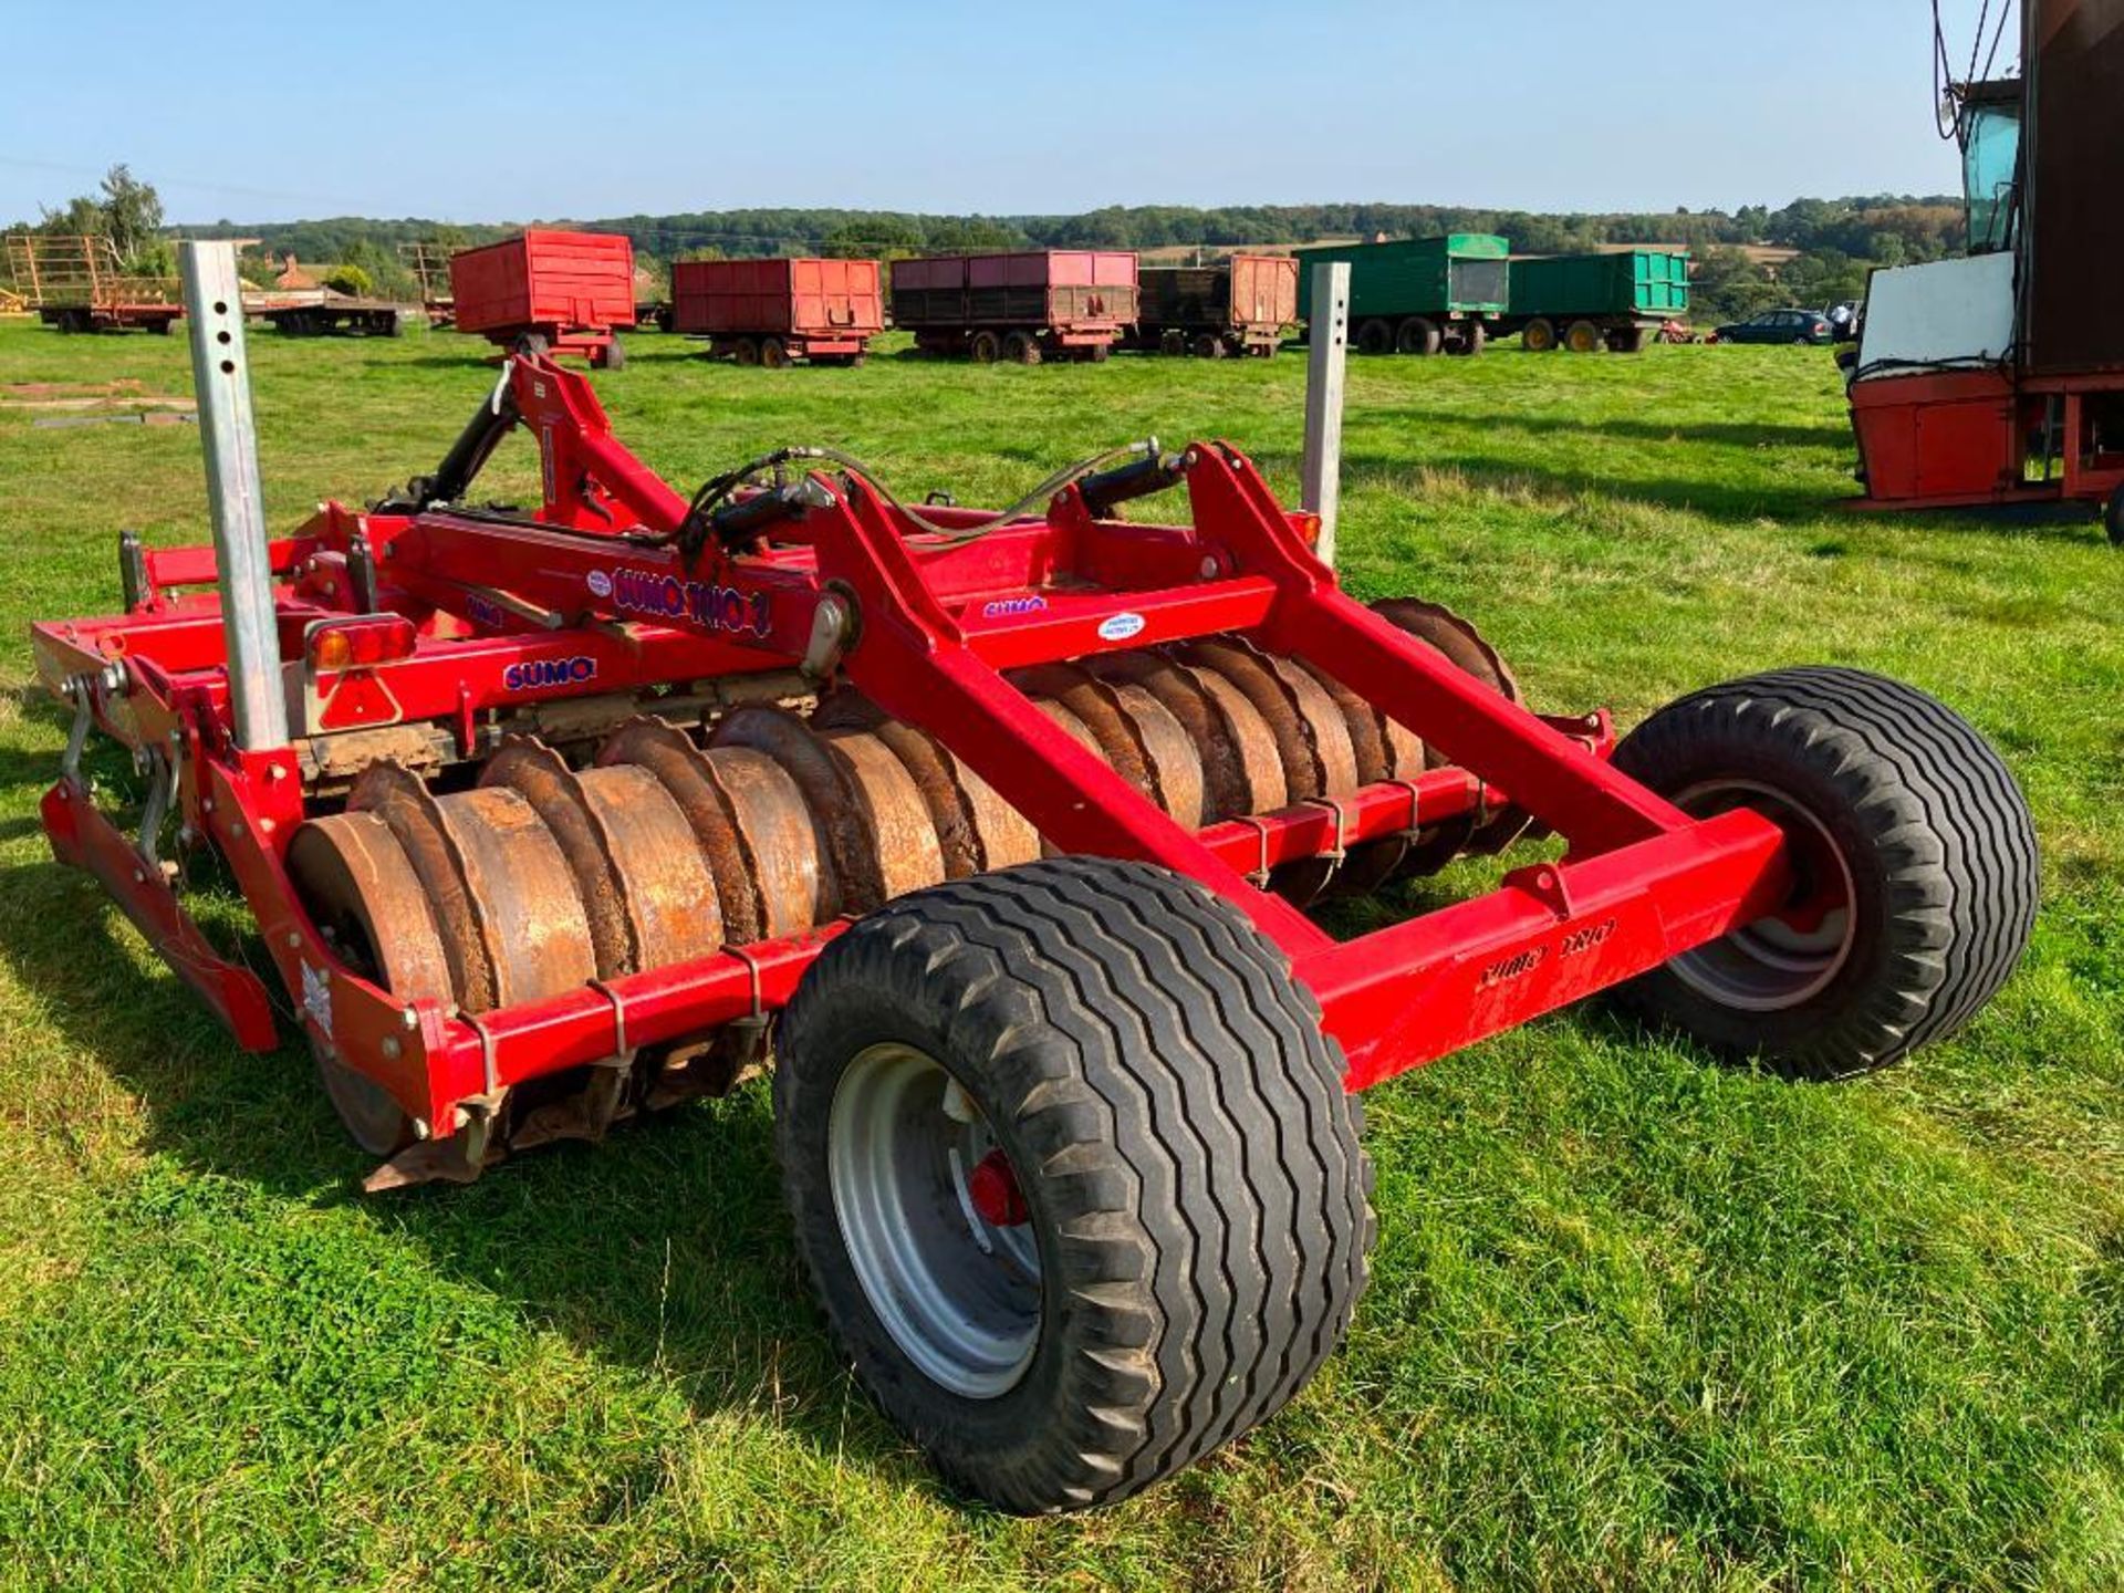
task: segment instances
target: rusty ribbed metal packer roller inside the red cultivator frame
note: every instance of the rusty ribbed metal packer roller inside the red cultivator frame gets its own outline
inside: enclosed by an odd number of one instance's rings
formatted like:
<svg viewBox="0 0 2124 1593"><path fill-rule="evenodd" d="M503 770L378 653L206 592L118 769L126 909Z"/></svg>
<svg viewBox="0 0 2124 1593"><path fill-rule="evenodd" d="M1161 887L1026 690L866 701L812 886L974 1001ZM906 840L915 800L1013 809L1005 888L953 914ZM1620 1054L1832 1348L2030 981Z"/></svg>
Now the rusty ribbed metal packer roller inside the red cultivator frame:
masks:
<svg viewBox="0 0 2124 1593"><path fill-rule="evenodd" d="M1398 627L1514 697L1495 650L1451 610L1378 605ZM1361 786L1412 782L1438 758L1402 724L1296 658L1236 637L1113 652L1020 671L1013 682L1151 803L1187 828ZM1517 811L1449 820L1279 867L1294 903L1376 890L1502 845ZM370 765L346 811L312 820L289 864L350 964L399 998L478 1020L593 981L669 966L862 915L945 879L1049 854L1034 826L935 735L841 688L807 714L746 705L682 726L635 718L586 767L510 737L469 790L431 790ZM637 1104L726 1087L758 1043L718 1037L593 1068L580 1098L489 1102L491 1130L414 1145L382 1183L472 1177L510 1145L590 1136ZM367 1126L363 1143L393 1138ZM397 1136L404 1138L404 1136ZM463 1158L472 1158L465 1164ZM455 1158L455 1160L452 1160Z"/></svg>

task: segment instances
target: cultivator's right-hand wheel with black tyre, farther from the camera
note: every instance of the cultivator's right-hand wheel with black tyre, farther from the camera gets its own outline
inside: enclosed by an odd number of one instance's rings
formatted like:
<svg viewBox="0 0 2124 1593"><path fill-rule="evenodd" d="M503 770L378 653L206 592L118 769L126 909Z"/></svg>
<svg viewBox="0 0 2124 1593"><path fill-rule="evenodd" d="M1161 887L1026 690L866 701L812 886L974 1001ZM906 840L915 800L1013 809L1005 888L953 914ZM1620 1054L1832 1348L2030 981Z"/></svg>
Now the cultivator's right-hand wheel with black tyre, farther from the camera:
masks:
<svg viewBox="0 0 2124 1593"><path fill-rule="evenodd" d="M1801 1079L1901 1060L2005 983L2035 924L2026 799L1952 709L1856 669L1780 669L1659 709L1616 748L1676 807L1788 839L1774 915L1623 986L1625 1007Z"/></svg>

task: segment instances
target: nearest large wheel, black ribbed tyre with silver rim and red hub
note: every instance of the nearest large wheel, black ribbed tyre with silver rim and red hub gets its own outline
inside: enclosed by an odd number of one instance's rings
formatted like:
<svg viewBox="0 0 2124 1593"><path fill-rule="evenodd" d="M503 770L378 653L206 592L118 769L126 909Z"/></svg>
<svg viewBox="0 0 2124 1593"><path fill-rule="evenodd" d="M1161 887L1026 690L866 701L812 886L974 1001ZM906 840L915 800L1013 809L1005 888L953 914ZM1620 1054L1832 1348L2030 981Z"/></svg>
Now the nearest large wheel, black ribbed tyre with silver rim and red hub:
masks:
<svg viewBox="0 0 2124 1593"><path fill-rule="evenodd" d="M1128 1497L1349 1328L1372 1215L1342 1056L1189 879L1054 858L903 896L820 954L780 1054L826 1319L966 1493Z"/></svg>

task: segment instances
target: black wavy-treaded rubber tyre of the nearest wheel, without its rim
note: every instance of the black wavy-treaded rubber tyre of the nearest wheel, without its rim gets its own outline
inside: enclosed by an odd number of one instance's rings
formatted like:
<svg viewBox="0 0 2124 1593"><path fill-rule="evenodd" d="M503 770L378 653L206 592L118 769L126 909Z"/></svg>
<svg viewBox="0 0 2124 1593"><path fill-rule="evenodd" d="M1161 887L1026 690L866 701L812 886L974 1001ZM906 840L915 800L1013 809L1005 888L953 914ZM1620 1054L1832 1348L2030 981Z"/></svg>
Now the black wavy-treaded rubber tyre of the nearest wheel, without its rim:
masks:
<svg viewBox="0 0 2124 1593"><path fill-rule="evenodd" d="M960 1449L952 1395L879 1376L811 1257L888 1412L958 1487L1015 1510L1126 1497L1274 1415L1349 1330L1372 1238L1340 1049L1281 952L1147 864L1051 858L918 892L835 941L788 1007L777 1119L830 1009L909 977L977 1037L1015 1113L990 1121L1051 1202L1066 1366L1022 1442ZM805 1196L792 1181L801 1236Z"/></svg>

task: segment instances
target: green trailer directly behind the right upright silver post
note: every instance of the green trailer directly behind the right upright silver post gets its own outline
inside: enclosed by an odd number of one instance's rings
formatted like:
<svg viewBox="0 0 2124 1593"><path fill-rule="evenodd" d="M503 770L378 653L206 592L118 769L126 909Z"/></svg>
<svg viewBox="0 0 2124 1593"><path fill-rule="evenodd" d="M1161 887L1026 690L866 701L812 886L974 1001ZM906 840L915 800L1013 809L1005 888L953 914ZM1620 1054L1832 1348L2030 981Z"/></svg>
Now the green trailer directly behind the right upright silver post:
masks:
<svg viewBox="0 0 2124 1593"><path fill-rule="evenodd" d="M1512 246L1487 232L1398 238L1385 244L1315 244L1298 253L1298 316L1311 319L1313 268L1349 261L1349 338L1359 355L1483 353L1510 308Z"/></svg>

